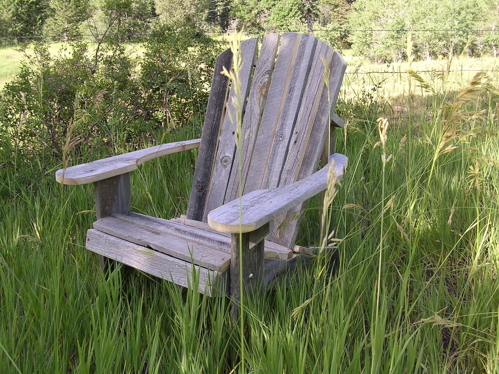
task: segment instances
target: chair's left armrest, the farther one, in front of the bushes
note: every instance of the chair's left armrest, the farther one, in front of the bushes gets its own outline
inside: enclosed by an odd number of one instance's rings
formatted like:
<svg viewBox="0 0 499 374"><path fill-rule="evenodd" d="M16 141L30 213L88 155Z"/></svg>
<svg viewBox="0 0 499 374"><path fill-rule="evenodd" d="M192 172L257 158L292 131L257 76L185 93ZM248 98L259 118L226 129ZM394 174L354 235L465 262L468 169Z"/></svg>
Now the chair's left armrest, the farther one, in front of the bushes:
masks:
<svg viewBox="0 0 499 374"><path fill-rule="evenodd" d="M180 151L199 148L201 139L184 142L166 143L160 146L108 157L86 164L59 169L55 172L55 180L64 185L84 185L116 177L137 169L137 166L157 157L170 155Z"/></svg>

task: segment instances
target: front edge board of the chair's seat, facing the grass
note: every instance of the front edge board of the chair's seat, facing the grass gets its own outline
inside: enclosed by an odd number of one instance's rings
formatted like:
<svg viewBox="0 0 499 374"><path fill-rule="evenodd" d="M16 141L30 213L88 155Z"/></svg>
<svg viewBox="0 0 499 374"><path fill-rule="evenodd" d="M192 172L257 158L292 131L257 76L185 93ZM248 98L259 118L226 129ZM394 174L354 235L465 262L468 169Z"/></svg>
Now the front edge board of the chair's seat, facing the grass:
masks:
<svg viewBox="0 0 499 374"><path fill-rule="evenodd" d="M190 262L170 257L94 229L87 232L86 247L101 256L106 256L184 287L192 287L195 279L199 279L199 291L207 296L228 293L227 271L219 273L199 266L194 267ZM194 280L193 268L196 272Z"/></svg>

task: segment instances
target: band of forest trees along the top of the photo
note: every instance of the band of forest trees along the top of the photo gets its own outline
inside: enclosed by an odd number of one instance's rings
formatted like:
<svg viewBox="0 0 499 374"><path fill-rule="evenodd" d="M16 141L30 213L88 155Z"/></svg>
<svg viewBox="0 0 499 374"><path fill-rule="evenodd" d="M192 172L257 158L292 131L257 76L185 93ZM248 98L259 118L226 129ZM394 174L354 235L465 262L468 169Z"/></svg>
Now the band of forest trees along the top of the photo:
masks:
<svg viewBox="0 0 499 374"><path fill-rule="evenodd" d="M110 17L123 40L143 40L159 23L209 32L304 31L309 18L319 38L371 61L406 58L408 30L418 31L417 59L499 53L498 0L0 0L0 43L100 35Z"/></svg>

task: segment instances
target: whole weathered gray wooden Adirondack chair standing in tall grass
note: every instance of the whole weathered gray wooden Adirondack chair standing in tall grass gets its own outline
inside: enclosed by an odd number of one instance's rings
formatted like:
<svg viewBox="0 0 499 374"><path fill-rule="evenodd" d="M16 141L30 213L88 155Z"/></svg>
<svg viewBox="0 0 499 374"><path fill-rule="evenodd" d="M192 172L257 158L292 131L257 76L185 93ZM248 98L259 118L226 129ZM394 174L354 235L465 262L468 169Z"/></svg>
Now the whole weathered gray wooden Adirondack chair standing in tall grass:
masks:
<svg viewBox="0 0 499 374"><path fill-rule="evenodd" d="M226 114L234 113L235 93L231 89L227 97L230 82L220 74L223 67L232 67L228 49L216 59L201 139L56 172L56 180L65 185L94 183L97 220L88 230L87 249L185 287L196 274L200 292L230 294L235 300L240 295L240 245L250 293L269 287L300 257L306 258L307 249L294 245L300 216L293 213L326 187L328 166L318 172L317 167L324 147L330 154L329 126L342 126L333 109L346 64L337 51L306 34L265 35L255 59L257 51L258 38L241 44L240 79L247 96L242 222L239 151ZM199 156L187 215L168 220L132 212L130 172L148 160L194 148ZM347 158L334 154L331 160L341 179Z"/></svg>

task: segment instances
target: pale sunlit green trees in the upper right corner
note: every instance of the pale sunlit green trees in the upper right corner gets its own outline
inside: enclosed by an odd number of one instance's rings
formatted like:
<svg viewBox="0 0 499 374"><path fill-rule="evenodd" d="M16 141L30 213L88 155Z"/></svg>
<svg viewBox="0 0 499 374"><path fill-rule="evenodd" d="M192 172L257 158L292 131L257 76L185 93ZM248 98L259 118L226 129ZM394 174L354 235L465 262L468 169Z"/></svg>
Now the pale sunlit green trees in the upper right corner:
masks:
<svg viewBox="0 0 499 374"><path fill-rule="evenodd" d="M493 28L497 22L497 5L489 0L357 0L353 3L348 26L353 51L371 61L389 62L406 59L407 30L413 32L417 59L450 57L466 53L478 56L492 52L490 36L495 33L474 32ZM496 13L487 9L496 6ZM496 14L495 20L481 14ZM375 31L363 31L375 30Z"/></svg>

